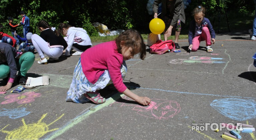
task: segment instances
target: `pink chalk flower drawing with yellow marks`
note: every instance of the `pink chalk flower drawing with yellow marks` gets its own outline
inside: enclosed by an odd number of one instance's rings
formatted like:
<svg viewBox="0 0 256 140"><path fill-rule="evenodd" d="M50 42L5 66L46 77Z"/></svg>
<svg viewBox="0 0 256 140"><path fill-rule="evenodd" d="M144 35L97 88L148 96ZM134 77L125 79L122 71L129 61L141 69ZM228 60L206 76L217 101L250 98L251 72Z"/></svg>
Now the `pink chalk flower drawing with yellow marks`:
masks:
<svg viewBox="0 0 256 140"><path fill-rule="evenodd" d="M5 96L5 101L2 102L1 104L10 104L17 102L18 104L27 104L34 102L34 98L40 97L40 93L35 93L35 92L25 92L23 94L10 94Z"/></svg>

